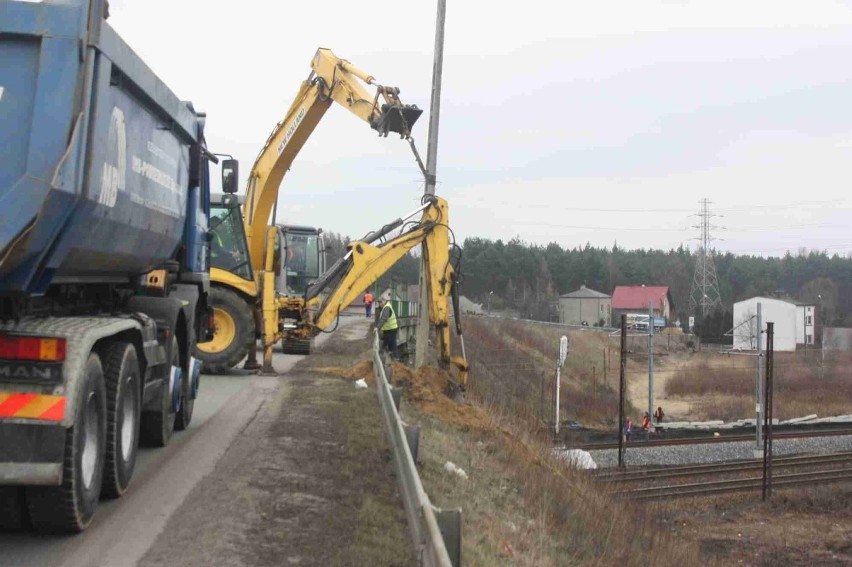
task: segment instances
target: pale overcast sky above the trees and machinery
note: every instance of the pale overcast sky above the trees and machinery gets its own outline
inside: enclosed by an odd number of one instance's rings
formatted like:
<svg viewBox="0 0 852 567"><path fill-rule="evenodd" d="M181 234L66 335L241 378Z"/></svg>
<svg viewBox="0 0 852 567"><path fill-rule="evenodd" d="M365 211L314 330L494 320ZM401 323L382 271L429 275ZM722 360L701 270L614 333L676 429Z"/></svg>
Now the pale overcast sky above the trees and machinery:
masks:
<svg viewBox="0 0 852 567"><path fill-rule="evenodd" d="M447 0L438 193L457 236L852 252L852 2ZM429 108L435 0L112 0L110 24L247 175L317 47ZM414 136L424 156L428 115ZM360 237L413 209L408 145L332 107L279 219ZM724 228L721 228L724 227Z"/></svg>

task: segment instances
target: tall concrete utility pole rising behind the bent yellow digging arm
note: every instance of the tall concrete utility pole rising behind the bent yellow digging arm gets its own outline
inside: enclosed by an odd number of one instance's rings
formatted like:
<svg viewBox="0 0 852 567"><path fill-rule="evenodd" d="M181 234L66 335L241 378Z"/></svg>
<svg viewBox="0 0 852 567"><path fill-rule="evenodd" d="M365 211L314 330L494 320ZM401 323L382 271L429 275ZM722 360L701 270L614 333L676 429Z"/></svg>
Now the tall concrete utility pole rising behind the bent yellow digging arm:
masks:
<svg viewBox="0 0 852 567"><path fill-rule="evenodd" d="M444 68L444 22L447 18L447 0L438 0L438 17L435 20L435 61L432 66L432 101L429 109L429 140L426 150L426 195L435 194L438 166L438 120L441 114L441 74ZM444 222L447 222L445 219ZM429 290L426 289L426 261L420 255L420 315L417 319L414 366L426 364L429 350Z"/></svg>

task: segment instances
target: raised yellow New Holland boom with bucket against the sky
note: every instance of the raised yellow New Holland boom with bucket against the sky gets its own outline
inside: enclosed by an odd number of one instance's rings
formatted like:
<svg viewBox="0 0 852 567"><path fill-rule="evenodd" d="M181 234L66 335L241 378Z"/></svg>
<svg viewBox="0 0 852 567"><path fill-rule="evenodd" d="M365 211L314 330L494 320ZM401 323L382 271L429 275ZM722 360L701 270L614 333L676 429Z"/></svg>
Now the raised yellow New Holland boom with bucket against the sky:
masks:
<svg viewBox="0 0 852 567"><path fill-rule="evenodd" d="M367 86L374 87L375 93L370 94ZM311 60L311 74L266 140L249 174L245 227L253 266L264 264L264 235L281 181L332 102L384 136L395 132L408 138L422 113L416 106L400 102L398 88L378 85L372 75L336 57L330 49L318 49Z"/></svg>

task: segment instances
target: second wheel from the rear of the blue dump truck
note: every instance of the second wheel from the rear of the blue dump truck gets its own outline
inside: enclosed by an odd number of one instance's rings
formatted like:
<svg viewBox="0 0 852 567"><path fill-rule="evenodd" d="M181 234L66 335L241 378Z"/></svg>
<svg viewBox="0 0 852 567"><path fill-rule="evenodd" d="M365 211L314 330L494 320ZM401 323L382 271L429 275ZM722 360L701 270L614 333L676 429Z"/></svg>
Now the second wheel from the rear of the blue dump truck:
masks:
<svg viewBox="0 0 852 567"><path fill-rule="evenodd" d="M109 345L104 354L107 392L107 443L101 496L118 498L127 490L139 446L140 371L136 348Z"/></svg>

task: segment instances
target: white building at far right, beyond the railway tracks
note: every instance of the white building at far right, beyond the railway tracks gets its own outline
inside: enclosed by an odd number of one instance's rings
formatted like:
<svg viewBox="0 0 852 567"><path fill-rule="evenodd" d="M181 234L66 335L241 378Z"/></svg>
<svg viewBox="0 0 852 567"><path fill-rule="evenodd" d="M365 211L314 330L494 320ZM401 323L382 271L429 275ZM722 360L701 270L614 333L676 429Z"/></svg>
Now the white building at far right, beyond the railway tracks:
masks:
<svg viewBox="0 0 852 567"><path fill-rule="evenodd" d="M757 347L757 304L761 304L763 330L766 323L775 324L773 337L777 351L794 351L796 345L814 344L815 309L773 297L752 297L734 303L734 348L755 350ZM766 334L761 335L766 348Z"/></svg>

